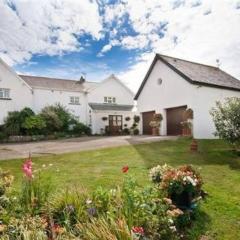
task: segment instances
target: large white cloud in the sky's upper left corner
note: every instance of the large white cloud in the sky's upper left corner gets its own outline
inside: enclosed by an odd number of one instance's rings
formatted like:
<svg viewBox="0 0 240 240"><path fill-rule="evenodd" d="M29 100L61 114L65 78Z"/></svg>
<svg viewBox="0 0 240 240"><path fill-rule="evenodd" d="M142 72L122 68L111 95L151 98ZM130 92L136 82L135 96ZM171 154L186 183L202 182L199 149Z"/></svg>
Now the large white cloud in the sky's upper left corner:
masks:
<svg viewBox="0 0 240 240"><path fill-rule="evenodd" d="M80 51L77 36L101 37L98 5L90 0L0 0L0 57L10 64L33 54Z"/></svg>

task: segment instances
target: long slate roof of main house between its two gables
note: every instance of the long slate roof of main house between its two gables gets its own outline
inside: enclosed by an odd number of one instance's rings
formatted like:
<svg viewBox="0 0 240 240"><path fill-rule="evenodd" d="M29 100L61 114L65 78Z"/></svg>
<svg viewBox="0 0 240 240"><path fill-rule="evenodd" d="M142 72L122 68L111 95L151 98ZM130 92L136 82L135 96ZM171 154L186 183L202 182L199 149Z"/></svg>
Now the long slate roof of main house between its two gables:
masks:
<svg viewBox="0 0 240 240"><path fill-rule="evenodd" d="M44 88L51 90L85 92L89 89L95 88L99 84L97 82L80 83L77 80L60 78L37 77L27 75L19 76L32 88Z"/></svg>

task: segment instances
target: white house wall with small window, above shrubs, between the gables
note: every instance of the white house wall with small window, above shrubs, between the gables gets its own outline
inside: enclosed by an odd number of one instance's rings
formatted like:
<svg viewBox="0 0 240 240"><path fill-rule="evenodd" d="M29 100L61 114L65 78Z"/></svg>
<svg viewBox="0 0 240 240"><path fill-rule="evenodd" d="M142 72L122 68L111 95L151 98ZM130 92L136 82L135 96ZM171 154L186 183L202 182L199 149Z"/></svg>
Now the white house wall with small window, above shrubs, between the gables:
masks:
<svg viewBox="0 0 240 240"><path fill-rule="evenodd" d="M76 96L80 99L80 105L70 104L70 97ZM66 107L82 123L87 123L87 98L81 92L68 92L48 89L34 89L33 109L40 112L42 108L60 103Z"/></svg>

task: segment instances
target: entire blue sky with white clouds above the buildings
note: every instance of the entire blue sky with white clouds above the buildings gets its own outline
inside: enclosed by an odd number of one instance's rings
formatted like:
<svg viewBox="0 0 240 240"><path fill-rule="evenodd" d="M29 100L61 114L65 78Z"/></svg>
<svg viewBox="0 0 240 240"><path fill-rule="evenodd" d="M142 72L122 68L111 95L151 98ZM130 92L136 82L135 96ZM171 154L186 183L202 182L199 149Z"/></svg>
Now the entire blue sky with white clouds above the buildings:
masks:
<svg viewBox="0 0 240 240"><path fill-rule="evenodd" d="M136 91L156 52L240 78L239 0L0 0L0 57L17 72Z"/></svg>

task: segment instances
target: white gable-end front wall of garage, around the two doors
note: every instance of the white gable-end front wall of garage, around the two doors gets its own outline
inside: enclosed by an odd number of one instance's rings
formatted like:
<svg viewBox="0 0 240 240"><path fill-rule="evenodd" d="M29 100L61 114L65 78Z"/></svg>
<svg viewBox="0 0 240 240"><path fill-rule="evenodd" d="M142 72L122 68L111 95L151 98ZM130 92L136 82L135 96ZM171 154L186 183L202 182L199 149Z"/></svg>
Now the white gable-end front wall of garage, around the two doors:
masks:
<svg viewBox="0 0 240 240"><path fill-rule="evenodd" d="M159 85L158 79L162 79ZM192 108L193 86L164 63L157 61L137 100L139 113L156 111L163 115L160 134L167 134L166 108L187 105ZM140 122L142 131L142 122Z"/></svg>

